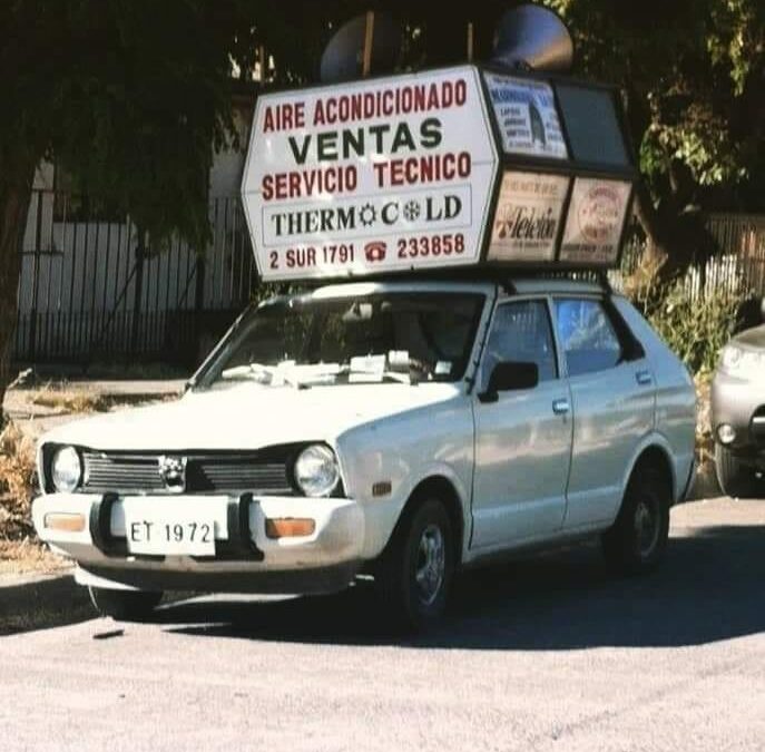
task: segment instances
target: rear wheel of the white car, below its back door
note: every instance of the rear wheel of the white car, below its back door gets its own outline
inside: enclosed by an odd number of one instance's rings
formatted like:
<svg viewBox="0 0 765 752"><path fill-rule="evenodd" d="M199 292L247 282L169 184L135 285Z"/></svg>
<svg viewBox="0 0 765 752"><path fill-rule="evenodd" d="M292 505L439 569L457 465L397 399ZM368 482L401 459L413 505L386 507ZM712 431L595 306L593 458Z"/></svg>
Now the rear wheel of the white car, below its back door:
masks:
<svg viewBox="0 0 765 752"><path fill-rule="evenodd" d="M601 536L606 561L620 574L655 569L669 538L670 487L665 473L638 466L629 480L614 525Z"/></svg>

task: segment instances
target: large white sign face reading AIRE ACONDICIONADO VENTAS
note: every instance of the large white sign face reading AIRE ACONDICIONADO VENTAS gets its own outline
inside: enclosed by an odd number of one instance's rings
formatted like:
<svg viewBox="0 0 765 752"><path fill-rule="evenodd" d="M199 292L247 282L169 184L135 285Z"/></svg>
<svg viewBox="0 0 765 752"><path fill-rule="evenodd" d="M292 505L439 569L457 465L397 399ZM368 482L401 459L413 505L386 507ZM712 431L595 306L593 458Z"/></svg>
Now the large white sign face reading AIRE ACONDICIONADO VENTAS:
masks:
<svg viewBox="0 0 765 752"><path fill-rule="evenodd" d="M471 66L262 96L242 185L261 276L477 263L498 162Z"/></svg>

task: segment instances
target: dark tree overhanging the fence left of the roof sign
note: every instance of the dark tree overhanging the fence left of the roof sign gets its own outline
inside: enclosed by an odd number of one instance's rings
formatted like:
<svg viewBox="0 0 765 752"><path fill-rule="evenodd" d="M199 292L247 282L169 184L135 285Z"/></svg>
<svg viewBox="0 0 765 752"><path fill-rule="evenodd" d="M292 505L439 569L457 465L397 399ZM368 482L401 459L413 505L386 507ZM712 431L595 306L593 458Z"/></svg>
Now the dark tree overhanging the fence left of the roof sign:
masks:
<svg viewBox="0 0 765 752"><path fill-rule="evenodd" d="M209 233L213 150L231 133L242 8L225 0L0 4L0 402L35 170L55 159L144 240Z"/></svg>

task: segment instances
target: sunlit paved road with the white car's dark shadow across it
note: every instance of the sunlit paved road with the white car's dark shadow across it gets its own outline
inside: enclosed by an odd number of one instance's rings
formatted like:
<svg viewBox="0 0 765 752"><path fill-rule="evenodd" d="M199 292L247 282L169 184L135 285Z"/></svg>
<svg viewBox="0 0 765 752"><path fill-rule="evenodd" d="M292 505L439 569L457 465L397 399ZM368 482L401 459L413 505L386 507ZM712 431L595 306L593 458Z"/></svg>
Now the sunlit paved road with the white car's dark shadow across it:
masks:
<svg viewBox="0 0 765 752"><path fill-rule="evenodd" d="M426 637L369 594L196 600L0 638L4 750L762 750L765 501L673 512L666 564L592 548L460 584Z"/></svg>

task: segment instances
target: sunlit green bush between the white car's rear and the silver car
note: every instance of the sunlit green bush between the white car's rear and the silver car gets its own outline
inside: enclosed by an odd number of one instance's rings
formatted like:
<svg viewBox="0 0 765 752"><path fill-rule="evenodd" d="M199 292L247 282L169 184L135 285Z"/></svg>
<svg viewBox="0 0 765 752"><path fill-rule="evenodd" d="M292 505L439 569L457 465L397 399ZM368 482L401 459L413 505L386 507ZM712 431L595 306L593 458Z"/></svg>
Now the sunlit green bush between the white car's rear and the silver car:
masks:
<svg viewBox="0 0 765 752"><path fill-rule="evenodd" d="M681 281L653 290L636 304L651 326L693 373L714 371L720 349L733 335L744 297L726 291L692 300Z"/></svg>

